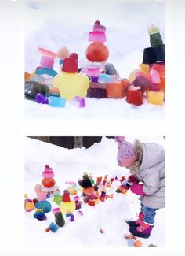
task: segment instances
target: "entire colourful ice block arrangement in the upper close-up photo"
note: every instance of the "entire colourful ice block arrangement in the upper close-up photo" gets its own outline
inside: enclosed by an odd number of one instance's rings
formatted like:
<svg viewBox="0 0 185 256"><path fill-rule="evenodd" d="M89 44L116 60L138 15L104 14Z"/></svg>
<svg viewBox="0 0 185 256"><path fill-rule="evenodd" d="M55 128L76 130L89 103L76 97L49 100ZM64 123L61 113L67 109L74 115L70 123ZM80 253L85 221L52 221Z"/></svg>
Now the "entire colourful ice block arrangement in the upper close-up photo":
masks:
<svg viewBox="0 0 185 256"><path fill-rule="evenodd" d="M86 65L78 69L78 54L63 46L57 53L38 47L39 66L32 74L25 72L25 95L49 106L64 107L67 100L85 107L85 97L124 98L129 104L140 106L143 100L155 105L165 101L165 44L159 28L148 29L151 46L143 50L140 69L133 70L128 79L121 78L112 63L108 63L109 49L106 27L96 20L89 32L89 46L85 51ZM60 60L60 70L53 69Z"/></svg>

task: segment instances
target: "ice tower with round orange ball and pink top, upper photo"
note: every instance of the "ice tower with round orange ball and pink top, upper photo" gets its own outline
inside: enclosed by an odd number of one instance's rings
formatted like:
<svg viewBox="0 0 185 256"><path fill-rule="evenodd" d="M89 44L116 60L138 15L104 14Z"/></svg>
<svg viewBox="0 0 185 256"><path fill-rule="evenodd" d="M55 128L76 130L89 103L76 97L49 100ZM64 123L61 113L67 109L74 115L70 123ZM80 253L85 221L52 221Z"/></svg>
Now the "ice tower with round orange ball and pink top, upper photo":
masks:
<svg viewBox="0 0 185 256"><path fill-rule="evenodd" d="M114 65L107 63L109 50L105 46L106 27L95 21L93 31L89 32L90 45L86 50L86 58L91 61L86 68L90 78L87 97L89 98L123 98L124 84L118 79L118 72ZM125 81L124 81L125 83Z"/></svg>

